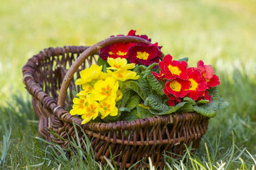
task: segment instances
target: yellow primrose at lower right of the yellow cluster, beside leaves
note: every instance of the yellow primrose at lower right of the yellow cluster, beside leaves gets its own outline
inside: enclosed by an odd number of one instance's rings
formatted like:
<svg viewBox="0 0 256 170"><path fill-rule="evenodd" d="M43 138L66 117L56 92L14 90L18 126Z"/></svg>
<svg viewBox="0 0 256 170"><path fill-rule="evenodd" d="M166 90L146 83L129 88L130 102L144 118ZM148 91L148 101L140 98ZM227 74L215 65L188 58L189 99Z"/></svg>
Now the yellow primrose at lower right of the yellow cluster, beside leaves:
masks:
<svg viewBox="0 0 256 170"><path fill-rule="evenodd" d="M118 109L115 107L115 100L109 99L106 97L104 100L99 101L99 112L101 114L101 118L105 118L106 116L117 116Z"/></svg>

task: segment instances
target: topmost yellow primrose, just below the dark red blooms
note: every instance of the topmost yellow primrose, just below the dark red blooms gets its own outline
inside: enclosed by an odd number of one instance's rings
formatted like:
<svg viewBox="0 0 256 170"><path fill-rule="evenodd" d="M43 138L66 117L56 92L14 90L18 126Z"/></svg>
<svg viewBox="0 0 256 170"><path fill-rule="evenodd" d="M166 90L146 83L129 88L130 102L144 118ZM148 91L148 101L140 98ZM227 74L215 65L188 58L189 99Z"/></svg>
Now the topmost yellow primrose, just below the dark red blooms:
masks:
<svg viewBox="0 0 256 170"><path fill-rule="evenodd" d="M108 67L107 69L112 70L120 70L120 69L133 69L135 67L135 63L127 64L127 60L125 58L109 58L108 57L108 63L111 67Z"/></svg>

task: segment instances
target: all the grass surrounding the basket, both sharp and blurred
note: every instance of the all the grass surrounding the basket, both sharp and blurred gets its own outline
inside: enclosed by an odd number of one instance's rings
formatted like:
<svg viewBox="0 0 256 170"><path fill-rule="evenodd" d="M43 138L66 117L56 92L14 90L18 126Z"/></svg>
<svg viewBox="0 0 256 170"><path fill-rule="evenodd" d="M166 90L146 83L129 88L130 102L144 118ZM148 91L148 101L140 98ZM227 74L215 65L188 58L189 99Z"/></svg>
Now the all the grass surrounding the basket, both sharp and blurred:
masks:
<svg viewBox="0 0 256 170"><path fill-rule="evenodd" d="M44 48L93 45L135 29L159 42L163 53L175 59L189 57L190 66L199 59L213 65L221 80L219 95L229 102L228 108L210 119L196 155L185 163L169 162L166 169L169 165L193 169L196 162L206 169L221 165L252 169L256 156L255 15L254 0L1 1L0 151L5 161L1 167L79 169L84 157L96 169L112 169L94 162L86 152L73 158L58 155L56 151L65 151L40 139L21 69Z"/></svg>

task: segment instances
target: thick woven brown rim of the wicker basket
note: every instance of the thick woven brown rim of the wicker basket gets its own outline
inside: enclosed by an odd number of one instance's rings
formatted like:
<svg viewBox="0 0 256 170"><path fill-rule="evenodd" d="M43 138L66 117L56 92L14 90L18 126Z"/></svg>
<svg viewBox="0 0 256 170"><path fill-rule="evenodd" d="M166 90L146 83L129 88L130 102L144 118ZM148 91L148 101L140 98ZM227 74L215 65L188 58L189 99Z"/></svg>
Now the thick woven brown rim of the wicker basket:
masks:
<svg viewBox="0 0 256 170"><path fill-rule="evenodd" d="M51 113L55 115L56 117L60 118L63 122L68 122L69 124L77 124L81 126L83 129L90 129L90 130L110 130L115 129L115 127L123 126L130 128L134 128L137 126L144 126L147 122L149 122L150 125L154 124L173 124L175 122L175 119L179 116L181 113L173 113L173 114L167 114L167 115L156 115L154 117L146 117L146 118L140 118L135 121L118 121L118 122L110 122L110 123L96 123L96 122L88 122L86 124L81 124L82 119L76 116L72 116L68 111L66 111L64 108L61 108L60 105L57 105L57 101L53 99L51 96L46 94L42 90L42 88L39 86L38 83L36 83L36 80L34 79L33 73L38 67L38 63L44 61L44 59L47 59L51 56L60 56L64 55L65 53L81 53L84 50L88 49L89 46L64 46L64 47L56 47L56 48L47 48L42 51L40 51L35 56L28 59L26 65L23 66L22 72L23 72L23 83L26 85L27 91L36 99L38 99L43 105L49 109L51 109ZM95 53L98 54L98 53ZM193 118L195 116L199 117L205 117L199 113L196 112L189 112L186 114L191 114ZM190 116L188 116L190 117ZM185 116L185 119L189 119L187 116Z"/></svg>

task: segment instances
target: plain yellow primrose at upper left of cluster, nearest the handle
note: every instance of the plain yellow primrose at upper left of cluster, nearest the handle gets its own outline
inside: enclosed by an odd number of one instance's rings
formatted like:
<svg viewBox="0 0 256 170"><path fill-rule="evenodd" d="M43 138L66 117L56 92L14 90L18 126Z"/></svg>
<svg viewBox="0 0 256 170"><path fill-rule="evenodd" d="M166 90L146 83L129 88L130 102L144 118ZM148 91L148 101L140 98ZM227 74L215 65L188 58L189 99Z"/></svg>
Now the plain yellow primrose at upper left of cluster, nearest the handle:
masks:
<svg viewBox="0 0 256 170"><path fill-rule="evenodd" d="M102 70L102 66L92 65L90 68L86 68L81 71L80 79L76 80L77 85L81 85L84 83L92 82L93 80L97 79L100 76Z"/></svg>

